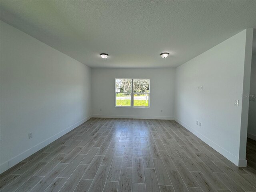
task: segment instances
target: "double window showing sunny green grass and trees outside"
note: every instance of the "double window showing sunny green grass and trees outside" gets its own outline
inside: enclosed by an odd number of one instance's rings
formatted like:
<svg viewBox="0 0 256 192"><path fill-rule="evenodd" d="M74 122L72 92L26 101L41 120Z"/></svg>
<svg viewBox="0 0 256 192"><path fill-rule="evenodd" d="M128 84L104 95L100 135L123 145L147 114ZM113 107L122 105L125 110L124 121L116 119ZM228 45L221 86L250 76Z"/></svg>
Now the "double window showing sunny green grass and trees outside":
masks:
<svg viewBox="0 0 256 192"><path fill-rule="evenodd" d="M115 79L116 107L149 107L150 79Z"/></svg>

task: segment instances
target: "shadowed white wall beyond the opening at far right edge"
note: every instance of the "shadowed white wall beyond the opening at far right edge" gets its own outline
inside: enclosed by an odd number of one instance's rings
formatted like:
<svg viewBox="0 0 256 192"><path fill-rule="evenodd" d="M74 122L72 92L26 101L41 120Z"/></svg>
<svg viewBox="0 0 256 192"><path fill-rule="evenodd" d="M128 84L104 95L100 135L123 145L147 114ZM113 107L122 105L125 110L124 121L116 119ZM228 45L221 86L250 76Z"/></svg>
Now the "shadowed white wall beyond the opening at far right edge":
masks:
<svg viewBox="0 0 256 192"><path fill-rule="evenodd" d="M256 54L252 55L250 95L256 95ZM256 101L249 102L248 137L256 140Z"/></svg>

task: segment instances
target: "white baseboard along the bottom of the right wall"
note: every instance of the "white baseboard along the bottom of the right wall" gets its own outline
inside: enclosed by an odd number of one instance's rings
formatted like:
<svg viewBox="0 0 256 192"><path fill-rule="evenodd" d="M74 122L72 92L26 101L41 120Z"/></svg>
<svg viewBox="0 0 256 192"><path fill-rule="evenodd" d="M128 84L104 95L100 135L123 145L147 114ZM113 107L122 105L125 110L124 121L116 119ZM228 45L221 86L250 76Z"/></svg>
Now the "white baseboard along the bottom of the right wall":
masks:
<svg viewBox="0 0 256 192"><path fill-rule="evenodd" d="M238 157L234 156L209 138L205 137L204 135L200 134L198 131L194 130L192 127L187 125L186 123L182 122L181 120L174 118L176 122L184 126L187 130L192 132L194 135L196 135L198 138L200 138L203 142L214 148L216 151L218 151L220 154L222 154L224 157L226 157L228 160L230 160L232 163L234 163L236 166L244 167L246 166L246 160L245 159L239 159Z"/></svg>

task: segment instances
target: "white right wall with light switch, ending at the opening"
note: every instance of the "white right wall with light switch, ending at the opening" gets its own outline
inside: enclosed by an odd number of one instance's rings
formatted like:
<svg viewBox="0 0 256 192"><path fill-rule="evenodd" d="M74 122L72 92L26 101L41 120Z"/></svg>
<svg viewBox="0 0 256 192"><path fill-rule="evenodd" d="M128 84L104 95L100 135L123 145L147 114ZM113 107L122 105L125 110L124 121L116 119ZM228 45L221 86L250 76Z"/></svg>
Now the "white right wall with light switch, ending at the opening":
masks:
<svg viewBox="0 0 256 192"><path fill-rule="evenodd" d="M249 94L251 53L249 29L179 66L175 74L175 120L239 166L246 165L249 100L242 95ZM247 116L242 114L246 106Z"/></svg>

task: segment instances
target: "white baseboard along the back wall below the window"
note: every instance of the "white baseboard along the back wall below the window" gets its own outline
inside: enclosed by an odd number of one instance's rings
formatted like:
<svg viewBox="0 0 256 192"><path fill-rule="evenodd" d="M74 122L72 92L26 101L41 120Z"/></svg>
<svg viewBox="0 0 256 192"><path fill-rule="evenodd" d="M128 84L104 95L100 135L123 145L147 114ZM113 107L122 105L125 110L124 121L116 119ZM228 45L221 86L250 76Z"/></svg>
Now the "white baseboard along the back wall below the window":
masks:
<svg viewBox="0 0 256 192"><path fill-rule="evenodd" d="M138 116L138 115L100 115L94 114L92 117L98 118L125 118L125 119L162 119L162 120L173 120L173 117L168 116Z"/></svg>

